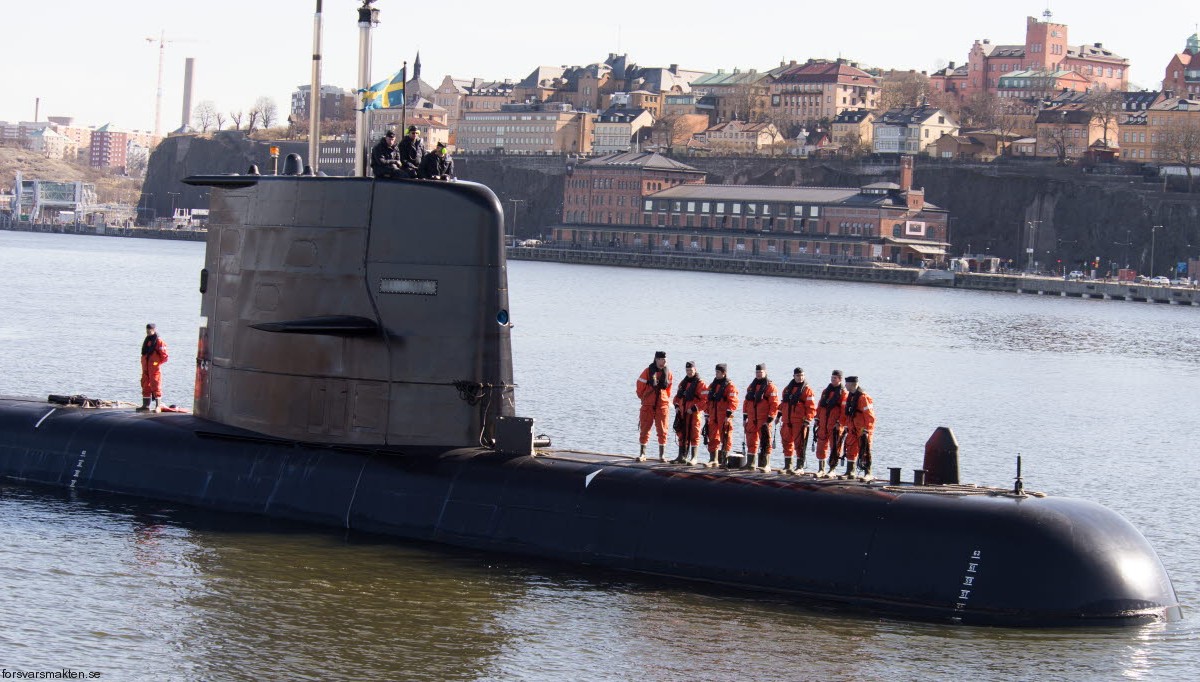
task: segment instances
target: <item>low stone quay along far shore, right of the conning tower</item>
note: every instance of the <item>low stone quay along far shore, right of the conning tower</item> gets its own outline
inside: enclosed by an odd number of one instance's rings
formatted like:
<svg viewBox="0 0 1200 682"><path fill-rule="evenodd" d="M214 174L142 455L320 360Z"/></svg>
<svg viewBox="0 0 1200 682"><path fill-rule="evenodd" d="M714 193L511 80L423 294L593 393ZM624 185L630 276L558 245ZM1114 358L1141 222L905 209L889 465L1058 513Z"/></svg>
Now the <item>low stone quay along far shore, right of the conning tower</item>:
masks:
<svg viewBox="0 0 1200 682"><path fill-rule="evenodd" d="M829 262L738 258L712 255L688 256L654 251L630 252L604 249L556 249L552 246L512 246L509 247L509 258L514 261L548 261L581 265L841 280L850 282L912 285L1200 306L1200 288L1196 287L1162 287L1100 280L1068 281L1062 277L1022 274L952 273L949 270L906 268L894 263L860 262L835 264Z"/></svg>

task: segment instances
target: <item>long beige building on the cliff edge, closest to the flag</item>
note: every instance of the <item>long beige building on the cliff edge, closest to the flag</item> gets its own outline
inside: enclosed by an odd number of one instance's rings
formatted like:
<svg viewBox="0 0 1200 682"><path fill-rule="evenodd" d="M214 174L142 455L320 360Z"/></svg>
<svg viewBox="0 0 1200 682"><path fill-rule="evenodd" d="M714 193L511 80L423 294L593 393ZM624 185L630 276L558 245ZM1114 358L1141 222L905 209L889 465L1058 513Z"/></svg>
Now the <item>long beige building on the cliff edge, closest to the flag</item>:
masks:
<svg viewBox="0 0 1200 682"><path fill-rule="evenodd" d="M466 112L457 146L464 154L590 154L596 114L565 102L503 104Z"/></svg>

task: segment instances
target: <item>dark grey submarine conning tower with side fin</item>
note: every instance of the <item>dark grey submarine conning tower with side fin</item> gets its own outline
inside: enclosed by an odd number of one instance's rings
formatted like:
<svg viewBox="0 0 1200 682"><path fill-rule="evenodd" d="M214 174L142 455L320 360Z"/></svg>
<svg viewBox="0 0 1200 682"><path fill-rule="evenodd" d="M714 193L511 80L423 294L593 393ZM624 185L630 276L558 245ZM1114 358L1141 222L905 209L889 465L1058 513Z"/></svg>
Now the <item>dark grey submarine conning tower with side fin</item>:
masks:
<svg viewBox="0 0 1200 682"><path fill-rule="evenodd" d="M196 414L296 442L486 444L514 411L503 213L474 183L203 175Z"/></svg>

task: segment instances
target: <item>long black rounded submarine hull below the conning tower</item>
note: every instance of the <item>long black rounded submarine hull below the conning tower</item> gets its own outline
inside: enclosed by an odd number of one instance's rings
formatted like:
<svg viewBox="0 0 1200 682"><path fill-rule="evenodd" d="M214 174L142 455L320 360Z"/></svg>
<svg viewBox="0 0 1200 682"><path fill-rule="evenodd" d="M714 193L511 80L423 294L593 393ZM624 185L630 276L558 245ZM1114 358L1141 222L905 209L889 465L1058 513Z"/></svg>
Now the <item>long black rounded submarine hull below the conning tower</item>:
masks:
<svg viewBox="0 0 1200 682"><path fill-rule="evenodd" d="M778 592L906 618L1177 620L1153 548L1070 498L640 465L382 451L191 414L0 399L0 477ZM818 531L818 532L816 532Z"/></svg>

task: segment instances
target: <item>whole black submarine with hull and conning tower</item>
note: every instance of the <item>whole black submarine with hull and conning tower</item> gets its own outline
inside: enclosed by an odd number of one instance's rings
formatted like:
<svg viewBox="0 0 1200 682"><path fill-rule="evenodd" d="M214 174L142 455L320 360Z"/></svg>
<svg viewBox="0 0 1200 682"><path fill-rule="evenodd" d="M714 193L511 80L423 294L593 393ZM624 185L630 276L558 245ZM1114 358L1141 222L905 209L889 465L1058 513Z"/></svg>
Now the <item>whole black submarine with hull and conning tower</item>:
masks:
<svg viewBox="0 0 1200 682"><path fill-rule="evenodd" d="M296 156L280 175L185 181L211 202L193 413L2 397L0 478L889 617L1182 617L1127 520L962 484L947 430L912 481L550 447L516 411L503 210L482 185L320 177ZM792 539L796 519L821 540Z"/></svg>

